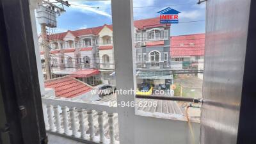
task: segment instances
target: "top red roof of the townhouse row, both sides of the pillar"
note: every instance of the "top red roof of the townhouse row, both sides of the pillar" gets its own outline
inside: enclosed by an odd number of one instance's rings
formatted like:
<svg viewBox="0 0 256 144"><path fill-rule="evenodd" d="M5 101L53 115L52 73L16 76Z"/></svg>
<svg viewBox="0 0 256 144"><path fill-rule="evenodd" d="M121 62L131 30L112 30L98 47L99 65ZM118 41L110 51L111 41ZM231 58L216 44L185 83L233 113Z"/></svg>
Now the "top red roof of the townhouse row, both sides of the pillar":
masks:
<svg viewBox="0 0 256 144"><path fill-rule="evenodd" d="M159 19L159 17L154 17L150 19L134 20L134 26L138 29L166 26L166 24L160 24ZM94 28L79 29L76 31L68 30L64 33L49 35L49 40L63 40L68 32L72 33L72 35L76 37L81 35L98 35L101 29L104 28L104 26L107 26L109 29L113 30L112 24L104 24L103 26L98 26ZM170 24L167 24L167 26L170 26Z"/></svg>

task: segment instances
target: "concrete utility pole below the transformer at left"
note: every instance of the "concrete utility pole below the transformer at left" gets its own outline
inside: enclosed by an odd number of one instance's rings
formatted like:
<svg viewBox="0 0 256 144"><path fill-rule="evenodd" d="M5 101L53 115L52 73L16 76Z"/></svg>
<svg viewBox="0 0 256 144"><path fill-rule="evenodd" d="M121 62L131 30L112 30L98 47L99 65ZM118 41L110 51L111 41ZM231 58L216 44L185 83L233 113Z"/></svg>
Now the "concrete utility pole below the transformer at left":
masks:
<svg viewBox="0 0 256 144"><path fill-rule="evenodd" d="M42 47L44 47L44 63L45 63L45 72L46 79L51 79L51 57L49 54L49 40L46 33L45 24L41 24L41 35L42 35Z"/></svg>

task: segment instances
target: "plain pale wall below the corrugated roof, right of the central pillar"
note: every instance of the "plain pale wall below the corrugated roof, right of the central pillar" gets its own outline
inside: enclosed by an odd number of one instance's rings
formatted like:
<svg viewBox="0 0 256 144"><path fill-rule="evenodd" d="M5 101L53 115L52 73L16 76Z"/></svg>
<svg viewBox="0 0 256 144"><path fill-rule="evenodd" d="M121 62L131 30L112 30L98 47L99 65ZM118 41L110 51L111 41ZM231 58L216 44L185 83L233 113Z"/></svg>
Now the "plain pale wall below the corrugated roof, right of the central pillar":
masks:
<svg viewBox="0 0 256 144"><path fill-rule="evenodd" d="M193 138L188 122L136 116L136 144L191 144ZM195 143L199 143L200 124L193 123Z"/></svg>

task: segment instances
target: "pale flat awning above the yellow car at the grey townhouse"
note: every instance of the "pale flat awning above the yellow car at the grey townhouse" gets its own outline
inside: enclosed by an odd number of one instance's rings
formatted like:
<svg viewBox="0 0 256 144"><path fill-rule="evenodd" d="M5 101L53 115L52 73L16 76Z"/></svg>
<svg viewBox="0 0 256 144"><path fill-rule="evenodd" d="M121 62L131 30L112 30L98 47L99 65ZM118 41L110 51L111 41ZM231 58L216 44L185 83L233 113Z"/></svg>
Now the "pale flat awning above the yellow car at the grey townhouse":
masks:
<svg viewBox="0 0 256 144"><path fill-rule="evenodd" d="M173 79L170 70L139 70L136 72L137 79Z"/></svg>

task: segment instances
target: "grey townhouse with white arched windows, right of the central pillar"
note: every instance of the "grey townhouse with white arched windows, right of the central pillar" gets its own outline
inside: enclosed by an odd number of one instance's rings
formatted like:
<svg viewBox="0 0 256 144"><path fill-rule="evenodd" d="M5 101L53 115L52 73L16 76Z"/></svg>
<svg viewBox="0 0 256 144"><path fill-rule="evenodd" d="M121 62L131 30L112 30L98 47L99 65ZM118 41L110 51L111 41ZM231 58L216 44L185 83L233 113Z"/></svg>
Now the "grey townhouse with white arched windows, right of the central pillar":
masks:
<svg viewBox="0 0 256 144"><path fill-rule="evenodd" d="M137 84L170 88L170 24L160 24L159 18L153 18L135 21L134 27Z"/></svg>

